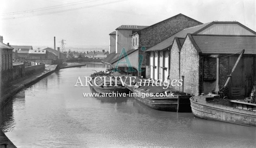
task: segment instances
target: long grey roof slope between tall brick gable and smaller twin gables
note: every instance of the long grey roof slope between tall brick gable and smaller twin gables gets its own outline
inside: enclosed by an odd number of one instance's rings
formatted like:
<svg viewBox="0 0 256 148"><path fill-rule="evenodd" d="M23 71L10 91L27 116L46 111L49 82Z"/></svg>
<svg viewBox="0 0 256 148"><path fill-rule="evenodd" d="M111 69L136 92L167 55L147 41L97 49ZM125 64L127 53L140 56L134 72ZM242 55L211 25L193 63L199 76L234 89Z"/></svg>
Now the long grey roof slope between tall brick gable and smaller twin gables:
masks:
<svg viewBox="0 0 256 148"><path fill-rule="evenodd" d="M210 23L205 23L205 24L202 24L202 25L197 25L197 26L194 26L194 27L189 27L189 28L186 28L184 30L181 30L180 32L177 32L176 34L170 36L169 38L163 40L162 42L156 44L155 46L149 48L146 51L159 51L159 50L166 49L166 48L168 48L172 45L172 43L174 42L175 37L185 38L187 36L187 34L193 34L194 32L202 29L203 27L205 27L206 25L209 25L209 24Z"/></svg>

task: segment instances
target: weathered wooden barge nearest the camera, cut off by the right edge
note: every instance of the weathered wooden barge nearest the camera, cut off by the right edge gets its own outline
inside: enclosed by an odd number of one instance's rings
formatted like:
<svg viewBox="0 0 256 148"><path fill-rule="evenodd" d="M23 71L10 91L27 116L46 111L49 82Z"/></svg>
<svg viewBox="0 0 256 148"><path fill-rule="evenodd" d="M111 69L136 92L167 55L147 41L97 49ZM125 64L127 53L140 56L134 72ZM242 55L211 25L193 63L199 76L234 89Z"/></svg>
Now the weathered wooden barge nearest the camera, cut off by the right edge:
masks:
<svg viewBox="0 0 256 148"><path fill-rule="evenodd" d="M239 100L214 99L216 95L191 97L192 113L198 118L256 126L256 104Z"/></svg>

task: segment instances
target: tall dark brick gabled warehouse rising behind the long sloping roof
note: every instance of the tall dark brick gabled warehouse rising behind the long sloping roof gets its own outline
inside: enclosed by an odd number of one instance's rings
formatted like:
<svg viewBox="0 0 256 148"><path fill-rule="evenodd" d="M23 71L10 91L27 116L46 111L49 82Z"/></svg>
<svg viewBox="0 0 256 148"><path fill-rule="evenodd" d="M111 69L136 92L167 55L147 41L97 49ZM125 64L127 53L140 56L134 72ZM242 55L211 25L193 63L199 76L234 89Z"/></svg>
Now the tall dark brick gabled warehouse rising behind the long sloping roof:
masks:
<svg viewBox="0 0 256 148"><path fill-rule="evenodd" d="M141 47L146 47L146 49L154 46L155 44L158 44L159 42L165 40L172 34L175 34L179 32L180 30L183 30L187 27L192 27L195 25L202 24L199 21L196 21L194 19L191 19L190 17L187 17L182 14L178 14L174 17L170 17L169 19L165 19L164 21L158 22L154 25L145 27L144 29L141 29L137 31L136 33L132 34L131 41L129 44L131 44L131 50L128 52L128 57L130 60L137 60L139 61L139 57L136 57L135 55L143 55L143 62L142 62L142 70L145 70L144 72L137 72L136 75L143 76L144 78L150 77L150 56L145 53L145 51L141 51ZM133 42L135 41L135 42ZM112 67L115 67L117 64L118 57L113 60L113 62L110 62L112 64ZM137 64L138 62L133 62ZM121 67L124 67L124 65L121 65ZM133 68L136 70L138 69L138 65L132 65ZM169 70L168 70L169 71Z"/></svg>

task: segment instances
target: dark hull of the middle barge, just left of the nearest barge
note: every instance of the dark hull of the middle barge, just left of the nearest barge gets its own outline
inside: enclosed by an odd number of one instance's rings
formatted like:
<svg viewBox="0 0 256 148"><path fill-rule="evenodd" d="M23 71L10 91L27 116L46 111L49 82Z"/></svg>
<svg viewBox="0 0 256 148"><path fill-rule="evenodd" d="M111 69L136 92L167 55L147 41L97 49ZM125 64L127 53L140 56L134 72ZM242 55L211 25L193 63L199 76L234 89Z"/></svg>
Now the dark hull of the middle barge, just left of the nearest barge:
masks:
<svg viewBox="0 0 256 148"><path fill-rule="evenodd" d="M134 93L140 93L133 90ZM191 95L177 95L174 97L138 97L136 100L154 109L167 112L191 112L189 98Z"/></svg>

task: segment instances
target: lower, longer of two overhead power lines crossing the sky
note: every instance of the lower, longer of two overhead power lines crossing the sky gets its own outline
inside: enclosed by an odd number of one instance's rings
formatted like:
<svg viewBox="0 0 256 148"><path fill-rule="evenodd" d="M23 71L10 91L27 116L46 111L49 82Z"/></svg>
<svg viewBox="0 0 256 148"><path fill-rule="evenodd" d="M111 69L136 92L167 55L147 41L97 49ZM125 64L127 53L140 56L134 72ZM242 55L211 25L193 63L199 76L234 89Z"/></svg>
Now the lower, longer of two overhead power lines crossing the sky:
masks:
<svg viewBox="0 0 256 148"><path fill-rule="evenodd" d="M126 0L117 0L117 1L113 1L113 2L94 4L94 5L91 5L91 6L85 6L85 7L80 7L80 8L71 8L71 9L66 9L66 10L61 10L61 11L54 11L54 12L49 12L49 13L41 13L41 14L35 14L35 15L27 15L27 16L21 16L21 17L6 17L6 18L2 18L2 20L34 17L34 16L40 16L40 15L49 15L49 14L54 14L54 13L62 13L62 12L67 12L67 11L74 11L74 10L83 9L83 8L91 8L91 7L95 7L95 6L102 6L102 5L106 5L106 4L112 4L112 3L123 2L123 1L126 1Z"/></svg>

